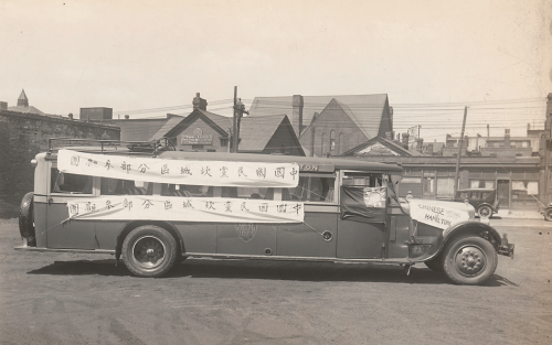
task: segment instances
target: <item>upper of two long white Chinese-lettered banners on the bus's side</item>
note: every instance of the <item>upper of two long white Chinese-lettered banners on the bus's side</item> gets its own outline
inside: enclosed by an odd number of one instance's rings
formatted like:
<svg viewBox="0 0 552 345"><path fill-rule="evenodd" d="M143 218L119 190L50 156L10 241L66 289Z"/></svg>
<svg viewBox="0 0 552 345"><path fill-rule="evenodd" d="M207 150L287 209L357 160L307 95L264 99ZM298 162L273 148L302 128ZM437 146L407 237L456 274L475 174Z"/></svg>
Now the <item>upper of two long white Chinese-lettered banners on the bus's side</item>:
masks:
<svg viewBox="0 0 552 345"><path fill-rule="evenodd" d="M163 160L60 150L62 172L110 179L213 186L295 187L296 163Z"/></svg>

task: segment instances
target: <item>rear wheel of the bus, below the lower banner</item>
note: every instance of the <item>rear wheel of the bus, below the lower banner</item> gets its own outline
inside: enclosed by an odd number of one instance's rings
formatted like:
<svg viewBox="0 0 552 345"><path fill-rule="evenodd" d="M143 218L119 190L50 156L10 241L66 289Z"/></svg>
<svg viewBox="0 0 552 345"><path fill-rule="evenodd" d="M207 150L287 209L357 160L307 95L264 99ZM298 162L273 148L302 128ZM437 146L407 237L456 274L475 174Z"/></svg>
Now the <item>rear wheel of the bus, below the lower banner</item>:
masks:
<svg viewBox="0 0 552 345"><path fill-rule="evenodd" d="M123 261L138 277L161 277L174 266L177 240L166 229L142 225L131 230L123 242Z"/></svg>

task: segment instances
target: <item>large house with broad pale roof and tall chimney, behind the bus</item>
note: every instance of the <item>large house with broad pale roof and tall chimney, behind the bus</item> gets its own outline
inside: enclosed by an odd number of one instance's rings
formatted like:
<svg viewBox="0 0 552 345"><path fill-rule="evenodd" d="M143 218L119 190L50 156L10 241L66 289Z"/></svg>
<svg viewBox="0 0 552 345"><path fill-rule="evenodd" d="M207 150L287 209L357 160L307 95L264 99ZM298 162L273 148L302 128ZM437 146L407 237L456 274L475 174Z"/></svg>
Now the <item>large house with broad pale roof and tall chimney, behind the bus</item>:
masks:
<svg viewBox="0 0 552 345"><path fill-rule="evenodd" d="M288 115L305 151L339 155L393 131L388 95L256 97L251 117Z"/></svg>

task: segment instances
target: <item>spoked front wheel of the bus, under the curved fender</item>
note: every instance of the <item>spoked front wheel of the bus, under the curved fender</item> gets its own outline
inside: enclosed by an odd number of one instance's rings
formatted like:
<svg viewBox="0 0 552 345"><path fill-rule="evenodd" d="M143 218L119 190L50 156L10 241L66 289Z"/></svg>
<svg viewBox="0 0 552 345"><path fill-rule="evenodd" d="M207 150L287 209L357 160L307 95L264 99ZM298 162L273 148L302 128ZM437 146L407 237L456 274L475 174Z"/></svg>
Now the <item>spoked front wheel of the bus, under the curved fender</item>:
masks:
<svg viewBox="0 0 552 345"><path fill-rule="evenodd" d="M444 249L443 268L457 284L477 285L489 279L497 269L495 247L478 236L450 240Z"/></svg>

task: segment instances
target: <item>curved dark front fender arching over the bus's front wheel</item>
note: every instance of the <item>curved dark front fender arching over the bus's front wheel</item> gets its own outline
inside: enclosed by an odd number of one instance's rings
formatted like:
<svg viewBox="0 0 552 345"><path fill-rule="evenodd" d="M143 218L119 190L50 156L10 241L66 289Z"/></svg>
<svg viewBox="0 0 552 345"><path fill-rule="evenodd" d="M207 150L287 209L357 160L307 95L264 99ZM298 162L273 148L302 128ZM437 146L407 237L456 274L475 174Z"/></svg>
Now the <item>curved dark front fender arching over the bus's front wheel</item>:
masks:
<svg viewBox="0 0 552 345"><path fill-rule="evenodd" d="M444 230L442 237L437 238L437 240L434 242L437 250L431 252L427 256L421 256L420 258L416 258L416 261L427 261L435 258L440 254L448 240L457 236L467 234L476 235L487 239L495 247L495 250L497 250L497 252L499 251L502 240L500 238L500 234L498 234L498 231L493 227L485 223L467 220L457 223Z"/></svg>

